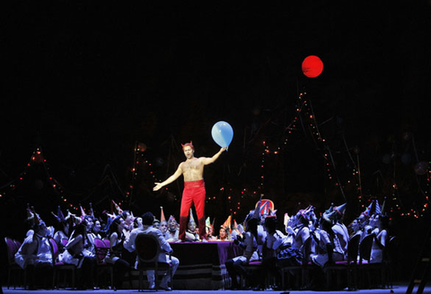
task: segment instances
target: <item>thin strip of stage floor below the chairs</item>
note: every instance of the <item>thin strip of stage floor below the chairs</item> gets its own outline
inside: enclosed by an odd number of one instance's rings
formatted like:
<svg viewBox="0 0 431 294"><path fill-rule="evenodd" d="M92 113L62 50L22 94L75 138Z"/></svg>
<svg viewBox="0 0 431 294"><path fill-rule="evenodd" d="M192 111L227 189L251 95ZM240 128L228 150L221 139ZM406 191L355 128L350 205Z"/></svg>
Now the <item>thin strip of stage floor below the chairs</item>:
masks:
<svg viewBox="0 0 431 294"><path fill-rule="evenodd" d="M311 294L311 293L321 293L321 294L327 294L327 293L337 293L337 294L352 294L352 293L357 293L357 294L404 294L406 293L407 290L407 284L399 284L399 285L393 285L392 289L368 289L368 290L356 290L356 291L347 291L347 290L340 290L340 291L310 291L310 290L303 290L303 291L299 291L299 290L292 290L292 291L271 291L271 290L266 290L266 291L253 291L253 290L172 290L169 293L235 293L235 294L243 294L243 293L262 293L262 292L266 292L266 293L291 293L291 294ZM64 293L64 294L70 294L70 293L82 293L82 294L86 294L86 293L92 293L92 294L105 294L105 293L119 293L119 294L126 294L126 293L138 293L137 290L117 290L117 291L113 291L113 290L22 290L22 289L9 289L7 290L5 287L3 288L3 292L8 293L8 294L23 294L23 293L49 293L49 294L57 294L57 293ZM155 292L150 291L150 290L145 290L145 292ZM158 292L166 292L164 290L159 290ZM416 289L413 291L413 293L416 293ZM431 285L429 285L428 287L426 287L426 289L424 290L424 294L431 294Z"/></svg>

